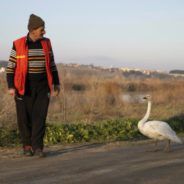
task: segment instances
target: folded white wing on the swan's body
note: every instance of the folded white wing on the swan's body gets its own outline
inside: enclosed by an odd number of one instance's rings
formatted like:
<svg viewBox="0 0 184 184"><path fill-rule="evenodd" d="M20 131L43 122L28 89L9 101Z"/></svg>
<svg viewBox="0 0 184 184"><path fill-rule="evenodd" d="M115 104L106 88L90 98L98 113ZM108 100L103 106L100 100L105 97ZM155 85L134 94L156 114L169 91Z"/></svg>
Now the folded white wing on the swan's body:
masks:
<svg viewBox="0 0 184 184"><path fill-rule="evenodd" d="M152 136L163 136L165 138L170 138L175 136L176 133L171 129L171 127L163 121L148 121L144 125L144 131Z"/></svg>

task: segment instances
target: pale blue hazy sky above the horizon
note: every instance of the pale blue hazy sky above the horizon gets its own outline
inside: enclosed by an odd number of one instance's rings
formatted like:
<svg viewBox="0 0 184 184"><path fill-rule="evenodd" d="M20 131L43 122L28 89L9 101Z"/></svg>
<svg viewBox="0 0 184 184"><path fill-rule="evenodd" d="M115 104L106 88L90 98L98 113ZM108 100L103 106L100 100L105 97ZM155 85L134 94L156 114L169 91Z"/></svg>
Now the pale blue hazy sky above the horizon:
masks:
<svg viewBox="0 0 184 184"><path fill-rule="evenodd" d="M183 0L6 0L0 10L0 60L34 13L57 63L184 70Z"/></svg>

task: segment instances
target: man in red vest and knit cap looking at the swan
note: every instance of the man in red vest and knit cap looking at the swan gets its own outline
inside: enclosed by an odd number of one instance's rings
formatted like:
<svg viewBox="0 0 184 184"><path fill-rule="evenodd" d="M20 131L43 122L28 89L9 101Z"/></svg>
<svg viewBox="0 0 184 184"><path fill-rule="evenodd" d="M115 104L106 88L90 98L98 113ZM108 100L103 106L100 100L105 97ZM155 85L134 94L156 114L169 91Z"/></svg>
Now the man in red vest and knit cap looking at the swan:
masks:
<svg viewBox="0 0 184 184"><path fill-rule="evenodd" d="M6 68L9 94L16 102L17 122L26 156L44 157L43 138L50 94L60 92L51 42L45 22L31 14L28 34L13 42Z"/></svg>

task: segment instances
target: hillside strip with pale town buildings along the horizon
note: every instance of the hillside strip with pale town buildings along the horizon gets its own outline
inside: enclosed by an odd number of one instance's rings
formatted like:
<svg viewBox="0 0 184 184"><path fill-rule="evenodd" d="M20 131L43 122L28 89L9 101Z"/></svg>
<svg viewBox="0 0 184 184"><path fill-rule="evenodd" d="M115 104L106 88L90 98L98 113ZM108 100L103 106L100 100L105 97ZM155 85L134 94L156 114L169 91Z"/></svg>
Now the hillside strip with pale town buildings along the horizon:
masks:
<svg viewBox="0 0 184 184"><path fill-rule="evenodd" d="M5 73L7 61L0 61L0 74ZM102 67L102 66L94 66L93 64L84 65L84 64L76 64L76 63L57 63L60 67L65 68L65 70L73 70L73 72L90 72L91 74L100 73L101 75L107 74L109 75L122 75L125 78L159 78L159 79L171 79L171 78L183 78L184 71L183 70L171 70L170 72L163 72L159 70L146 70L146 69L138 69L138 68L128 68L128 67Z"/></svg>

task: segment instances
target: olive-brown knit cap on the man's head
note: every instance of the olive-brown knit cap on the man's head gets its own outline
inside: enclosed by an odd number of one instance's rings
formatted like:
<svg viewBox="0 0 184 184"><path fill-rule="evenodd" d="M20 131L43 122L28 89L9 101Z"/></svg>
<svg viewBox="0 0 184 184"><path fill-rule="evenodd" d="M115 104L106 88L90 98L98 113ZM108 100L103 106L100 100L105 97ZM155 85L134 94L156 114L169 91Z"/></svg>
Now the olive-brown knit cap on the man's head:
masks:
<svg viewBox="0 0 184 184"><path fill-rule="evenodd" d="M29 22L27 26L28 30L32 31L41 26L45 26L45 22L43 21L43 19L37 15L31 14L29 17Z"/></svg>

